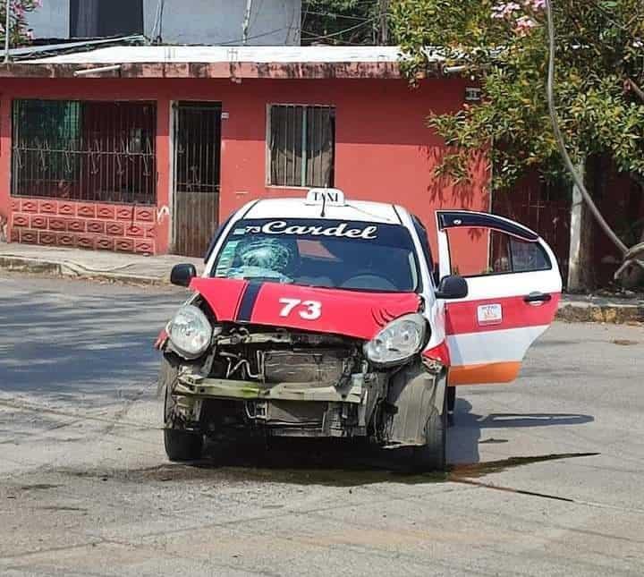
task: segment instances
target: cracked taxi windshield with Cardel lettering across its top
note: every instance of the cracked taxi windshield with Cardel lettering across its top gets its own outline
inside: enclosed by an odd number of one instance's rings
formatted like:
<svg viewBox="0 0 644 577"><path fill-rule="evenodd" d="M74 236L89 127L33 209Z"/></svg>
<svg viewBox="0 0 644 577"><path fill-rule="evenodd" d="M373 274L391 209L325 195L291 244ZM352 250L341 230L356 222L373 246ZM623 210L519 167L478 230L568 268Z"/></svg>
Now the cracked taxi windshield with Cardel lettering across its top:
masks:
<svg viewBox="0 0 644 577"><path fill-rule="evenodd" d="M234 224L213 276L405 293L418 287L418 266L400 225L253 219Z"/></svg>

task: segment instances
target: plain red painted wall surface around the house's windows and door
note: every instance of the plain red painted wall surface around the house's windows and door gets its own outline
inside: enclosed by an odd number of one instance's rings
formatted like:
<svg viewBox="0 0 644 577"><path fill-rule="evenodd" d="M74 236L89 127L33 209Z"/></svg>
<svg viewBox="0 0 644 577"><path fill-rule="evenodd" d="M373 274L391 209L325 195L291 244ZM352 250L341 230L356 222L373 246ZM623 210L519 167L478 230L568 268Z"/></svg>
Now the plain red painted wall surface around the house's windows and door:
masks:
<svg viewBox="0 0 644 577"><path fill-rule="evenodd" d="M335 186L348 198L410 209L428 227L435 251L436 208L489 208L485 155L474 159L469 183L454 185L433 174L445 147L426 127L426 115L462 105L460 80L426 81L411 90L398 80L6 79L0 90L0 217L9 221L12 98L157 100L157 252L167 251L171 238L170 115L171 103L180 99L219 101L228 114L222 125L220 220L251 199L305 193L266 184L270 103L335 106Z"/></svg>

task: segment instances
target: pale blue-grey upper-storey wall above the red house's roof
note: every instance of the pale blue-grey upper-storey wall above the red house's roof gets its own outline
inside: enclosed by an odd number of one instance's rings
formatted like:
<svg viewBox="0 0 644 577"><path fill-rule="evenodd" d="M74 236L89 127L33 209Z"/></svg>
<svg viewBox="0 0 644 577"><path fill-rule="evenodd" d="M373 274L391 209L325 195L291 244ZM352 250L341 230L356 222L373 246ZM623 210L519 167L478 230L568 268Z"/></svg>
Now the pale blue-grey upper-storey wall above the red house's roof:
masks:
<svg viewBox="0 0 644 577"><path fill-rule="evenodd" d="M144 33L157 38L160 0L143 1ZM161 36L166 44L242 44L243 0L163 0ZM299 45L301 0L255 0L250 46ZM70 0L47 0L28 15L36 38L69 38Z"/></svg>

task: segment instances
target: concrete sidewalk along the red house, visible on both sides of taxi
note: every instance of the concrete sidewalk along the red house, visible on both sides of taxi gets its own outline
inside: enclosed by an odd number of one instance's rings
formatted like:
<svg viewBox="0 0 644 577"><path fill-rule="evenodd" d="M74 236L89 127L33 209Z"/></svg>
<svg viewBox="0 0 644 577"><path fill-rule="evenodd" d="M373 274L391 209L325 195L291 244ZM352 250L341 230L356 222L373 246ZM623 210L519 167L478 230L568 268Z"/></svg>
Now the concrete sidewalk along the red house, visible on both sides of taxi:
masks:
<svg viewBox="0 0 644 577"><path fill-rule="evenodd" d="M181 262L191 262L199 273L203 270L202 259L190 257L143 257L121 252L0 242L0 270L136 284L168 284L170 270ZM564 294L557 318L569 322L644 323L644 298Z"/></svg>

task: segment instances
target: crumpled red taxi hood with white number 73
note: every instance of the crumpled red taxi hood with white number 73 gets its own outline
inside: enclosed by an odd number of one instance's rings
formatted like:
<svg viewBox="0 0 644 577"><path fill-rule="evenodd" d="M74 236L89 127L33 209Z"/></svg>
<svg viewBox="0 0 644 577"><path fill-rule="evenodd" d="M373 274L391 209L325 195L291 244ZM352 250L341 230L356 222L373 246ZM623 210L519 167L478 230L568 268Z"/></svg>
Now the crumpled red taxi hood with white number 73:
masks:
<svg viewBox="0 0 644 577"><path fill-rule="evenodd" d="M228 278L193 278L217 320L370 340L389 321L417 312L416 293L358 293L295 284L249 283Z"/></svg>

